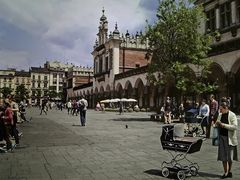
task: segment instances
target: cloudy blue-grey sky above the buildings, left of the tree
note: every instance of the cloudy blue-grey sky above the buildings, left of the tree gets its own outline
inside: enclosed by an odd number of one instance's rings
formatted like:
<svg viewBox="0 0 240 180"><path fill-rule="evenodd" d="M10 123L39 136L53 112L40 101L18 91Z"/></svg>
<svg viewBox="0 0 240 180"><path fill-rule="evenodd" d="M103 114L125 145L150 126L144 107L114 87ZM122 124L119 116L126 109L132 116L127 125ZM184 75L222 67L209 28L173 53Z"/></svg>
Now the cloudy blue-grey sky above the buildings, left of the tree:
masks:
<svg viewBox="0 0 240 180"><path fill-rule="evenodd" d="M102 9L109 32L145 31L159 0L0 0L0 69L28 70L46 61L93 66Z"/></svg>

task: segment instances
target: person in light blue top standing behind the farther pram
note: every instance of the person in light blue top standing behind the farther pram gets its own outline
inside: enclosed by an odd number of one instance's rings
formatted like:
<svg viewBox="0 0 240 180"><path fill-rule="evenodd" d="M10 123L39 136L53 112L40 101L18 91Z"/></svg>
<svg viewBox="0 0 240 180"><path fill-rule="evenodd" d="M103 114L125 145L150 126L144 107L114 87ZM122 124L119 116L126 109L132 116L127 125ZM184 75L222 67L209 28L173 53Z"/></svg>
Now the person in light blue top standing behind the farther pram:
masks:
<svg viewBox="0 0 240 180"><path fill-rule="evenodd" d="M202 118L201 128L202 128L202 136L206 136L206 126L208 124L209 119L209 105L206 103L206 100L202 100L202 104L199 109L199 117Z"/></svg>

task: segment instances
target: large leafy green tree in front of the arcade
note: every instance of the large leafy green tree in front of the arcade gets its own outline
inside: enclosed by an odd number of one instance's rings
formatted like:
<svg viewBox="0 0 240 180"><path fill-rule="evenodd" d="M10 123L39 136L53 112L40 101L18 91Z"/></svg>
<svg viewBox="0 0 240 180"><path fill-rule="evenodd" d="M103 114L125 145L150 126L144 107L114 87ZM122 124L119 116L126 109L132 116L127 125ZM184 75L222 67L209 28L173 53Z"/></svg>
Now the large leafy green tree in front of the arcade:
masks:
<svg viewBox="0 0 240 180"><path fill-rule="evenodd" d="M205 19L203 8L188 0L161 0L157 22L147 25L144 39L149 40L146 57L149 61L147 78L163 87L168 96L173 86L184 93L204 93L215 89L207 84L211 60L207 59L211 37L199 32ZM198 78L191 69L198 71ZM193 71L192 71L193 72ZM191 88L190 88L191 87Z"/></svg>

